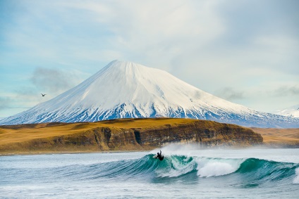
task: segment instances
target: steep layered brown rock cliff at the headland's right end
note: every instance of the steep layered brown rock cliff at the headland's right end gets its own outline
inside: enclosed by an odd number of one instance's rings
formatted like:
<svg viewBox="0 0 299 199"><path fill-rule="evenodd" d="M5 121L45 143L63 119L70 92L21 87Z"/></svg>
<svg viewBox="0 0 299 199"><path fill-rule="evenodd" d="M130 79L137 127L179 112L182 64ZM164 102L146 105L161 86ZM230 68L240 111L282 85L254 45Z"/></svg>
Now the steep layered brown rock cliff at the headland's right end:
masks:
<svg viewBox="0 0 299 199"><path fill-rule="evenodd" d="M243 145L262 143L262 136L233 124L207 122L166 125L163 129L134 129L136 141L142 146L164 146L169 143L198 143L201 146Z"/></svg>

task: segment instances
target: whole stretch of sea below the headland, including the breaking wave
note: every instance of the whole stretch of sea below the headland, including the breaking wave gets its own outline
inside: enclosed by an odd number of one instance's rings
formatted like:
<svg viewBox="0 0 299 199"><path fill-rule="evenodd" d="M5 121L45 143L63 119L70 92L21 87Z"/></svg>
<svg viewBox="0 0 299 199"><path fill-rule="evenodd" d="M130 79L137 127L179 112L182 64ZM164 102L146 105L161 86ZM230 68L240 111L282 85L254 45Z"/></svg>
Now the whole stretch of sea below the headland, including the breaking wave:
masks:
<svg viewBox="0 0 299 199"><path fill-rule="evenodd" d="M299 149L1 156L0 198L299 198Z"/></svg>

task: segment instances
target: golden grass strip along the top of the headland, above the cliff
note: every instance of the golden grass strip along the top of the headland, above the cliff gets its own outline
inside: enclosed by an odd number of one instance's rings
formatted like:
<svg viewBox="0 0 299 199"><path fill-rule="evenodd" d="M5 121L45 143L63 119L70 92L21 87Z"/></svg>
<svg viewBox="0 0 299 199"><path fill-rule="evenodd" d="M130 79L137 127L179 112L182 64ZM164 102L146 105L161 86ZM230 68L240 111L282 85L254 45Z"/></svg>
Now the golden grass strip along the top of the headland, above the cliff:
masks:
<svg viewBox="0 0 299 199"><path fill-rule="evenodd" d="M44 139L54 136L75 134L97 127L109 128L155 128L166 124L188 124L192 119L153 118L153 119L121 119L106 120L102 122L78 122L78 123L44 123L44 124L20 124L0 126L0 146L9 143L20 143L33 139Z"/></svg>

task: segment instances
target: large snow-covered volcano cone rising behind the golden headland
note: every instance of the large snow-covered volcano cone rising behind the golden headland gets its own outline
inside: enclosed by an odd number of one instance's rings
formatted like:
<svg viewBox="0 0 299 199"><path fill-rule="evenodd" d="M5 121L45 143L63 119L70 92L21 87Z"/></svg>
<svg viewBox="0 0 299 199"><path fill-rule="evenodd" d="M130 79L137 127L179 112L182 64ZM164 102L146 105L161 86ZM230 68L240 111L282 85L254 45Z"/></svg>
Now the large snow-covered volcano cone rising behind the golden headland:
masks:
<svg viewBox="0 0 299 199"><path fill-rule="evenodd" d="M0 124L189 117L247 127L299 127L299 120L225 101L168 72L114 60L73 89Z"/></svg>

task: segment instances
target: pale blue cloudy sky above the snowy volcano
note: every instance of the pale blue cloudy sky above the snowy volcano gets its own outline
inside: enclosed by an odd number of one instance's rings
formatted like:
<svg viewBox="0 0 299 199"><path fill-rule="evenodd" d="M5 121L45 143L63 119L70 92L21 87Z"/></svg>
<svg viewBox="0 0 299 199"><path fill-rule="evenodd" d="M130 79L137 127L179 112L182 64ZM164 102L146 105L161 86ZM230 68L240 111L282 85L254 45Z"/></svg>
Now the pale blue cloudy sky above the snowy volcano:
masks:
<svg viewBox="0 0 299 199"><path fill-rule="evenodd" d="M296 0L1 0L0 117L54 98L116 59L255 110L297 105L298 9Z"/></svg>

